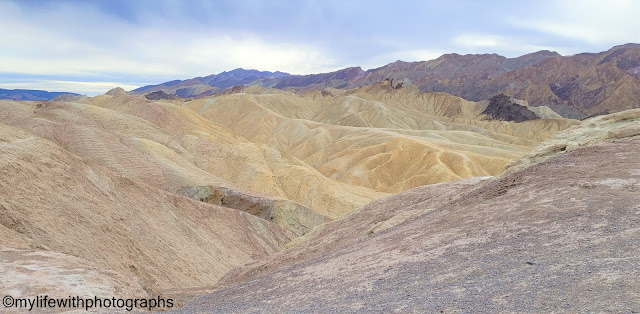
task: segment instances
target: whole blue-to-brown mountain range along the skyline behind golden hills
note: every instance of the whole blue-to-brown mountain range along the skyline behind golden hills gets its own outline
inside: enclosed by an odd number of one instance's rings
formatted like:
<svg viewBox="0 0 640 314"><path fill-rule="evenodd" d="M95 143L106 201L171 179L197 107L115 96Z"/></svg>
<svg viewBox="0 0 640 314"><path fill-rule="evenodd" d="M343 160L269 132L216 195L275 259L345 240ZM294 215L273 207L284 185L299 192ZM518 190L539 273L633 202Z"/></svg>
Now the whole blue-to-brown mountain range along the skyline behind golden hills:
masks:
<svg viewBox="0 0 640 314"><path fill-rule="evenodd" d="M542 50L517 58L497 54L445 54L420 62L396 61L362 70L290 75L235 69L217 75L141 87L134 94L164 90L180 97L205 96L235 85L279 89L352 89L383 80L424 92L446 92L467 100L504 94L530 106L548 106L564 117L581 119L640 107L640 45L615 46L600 53L561 56ZM395 83L394 83L395 82Z"/></svg>

